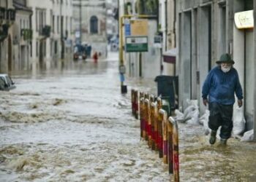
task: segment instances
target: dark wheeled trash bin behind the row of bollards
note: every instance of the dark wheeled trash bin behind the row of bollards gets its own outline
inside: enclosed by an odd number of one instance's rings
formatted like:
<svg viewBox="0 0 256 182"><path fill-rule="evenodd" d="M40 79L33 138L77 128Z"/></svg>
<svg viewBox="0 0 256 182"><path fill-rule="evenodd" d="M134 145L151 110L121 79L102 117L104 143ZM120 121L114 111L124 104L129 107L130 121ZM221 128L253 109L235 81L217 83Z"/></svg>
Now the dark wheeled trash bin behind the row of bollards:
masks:
<svg viewBox="0 0 256 182"><path fill-rule="evenodd" d="M178 76L160 75L154 81L157 82L157 95L168 100L170 111L178 108ZM168 115L170 111L167 111Z"/></svg>

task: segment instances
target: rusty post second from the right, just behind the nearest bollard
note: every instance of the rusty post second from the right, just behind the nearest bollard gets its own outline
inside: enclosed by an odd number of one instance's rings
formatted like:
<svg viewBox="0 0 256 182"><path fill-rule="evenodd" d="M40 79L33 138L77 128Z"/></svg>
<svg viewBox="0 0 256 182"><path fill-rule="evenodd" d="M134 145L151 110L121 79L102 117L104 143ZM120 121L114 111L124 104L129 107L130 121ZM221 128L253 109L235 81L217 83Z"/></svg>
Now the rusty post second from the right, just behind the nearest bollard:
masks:
<svg viewBox="0 0 256 182"><path fill-rule="evenodd" d="M167 130L168 130L168 165L169 165L169 173L173 174L173 118L169 117L167 122Z"/></svg>

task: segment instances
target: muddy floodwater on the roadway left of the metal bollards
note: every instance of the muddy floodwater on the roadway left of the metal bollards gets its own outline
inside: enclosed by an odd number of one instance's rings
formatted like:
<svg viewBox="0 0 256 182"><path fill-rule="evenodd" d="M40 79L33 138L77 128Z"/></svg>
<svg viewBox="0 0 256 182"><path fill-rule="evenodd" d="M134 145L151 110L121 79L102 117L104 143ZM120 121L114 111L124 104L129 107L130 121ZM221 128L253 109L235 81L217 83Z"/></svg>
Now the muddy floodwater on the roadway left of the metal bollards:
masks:
<svg viewBox="0 0 256 182"><path fill-rule="evenodd" d="M140 142L114 56L13 76L17 88L0 94L0 181L169 179Z"/></svg>

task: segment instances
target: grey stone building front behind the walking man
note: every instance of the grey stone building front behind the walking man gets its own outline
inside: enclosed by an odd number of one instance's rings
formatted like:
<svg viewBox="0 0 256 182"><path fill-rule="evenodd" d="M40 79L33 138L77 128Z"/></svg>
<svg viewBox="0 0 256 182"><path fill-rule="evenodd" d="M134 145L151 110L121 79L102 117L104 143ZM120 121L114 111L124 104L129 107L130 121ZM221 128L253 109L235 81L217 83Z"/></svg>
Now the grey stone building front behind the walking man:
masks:
<svg viewBox="0 0 256 182"><path fill-rule="evenodd" d="M206 107L201 90L208 71L220 55L230 53L235 61L244 90L246 130L255 126L255 28L235 23L236 13L255 23L255 0L181 0L176 1L178 28L179 103L186 108L187 99L196 99L203 114ZM254 10L246 15L248 10ZM253 19L254 16L254 19ZM254 22L253 22L254 21ZM254 84L253 84L254 83ZM235 107L236 108L236 103Z"/></svg>

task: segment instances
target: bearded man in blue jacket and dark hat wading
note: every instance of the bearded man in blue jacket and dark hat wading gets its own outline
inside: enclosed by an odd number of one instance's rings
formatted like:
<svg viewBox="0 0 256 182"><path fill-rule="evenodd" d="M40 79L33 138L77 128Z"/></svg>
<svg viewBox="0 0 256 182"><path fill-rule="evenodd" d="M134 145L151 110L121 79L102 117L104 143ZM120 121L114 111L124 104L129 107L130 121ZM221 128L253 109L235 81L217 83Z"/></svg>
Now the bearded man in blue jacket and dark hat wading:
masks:
<svg viewBox="0 0 256 182"><path fill-rule="evenodd" d="M210 111L208 127L211 129L209 142L214 144L219 127L220 143L226 144L233 129L233 104L235 103L235 93L238 98L238 106L243 105L243 91L239 82L238 72L233 68L235 63L229 54L224 54L216 62L214 67L206 77L203 84L202 98L203 104ZM208 98L207 98L208 97Z"/></svg>

